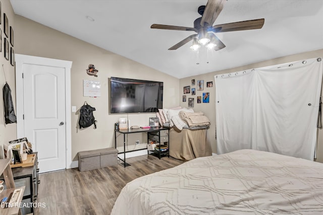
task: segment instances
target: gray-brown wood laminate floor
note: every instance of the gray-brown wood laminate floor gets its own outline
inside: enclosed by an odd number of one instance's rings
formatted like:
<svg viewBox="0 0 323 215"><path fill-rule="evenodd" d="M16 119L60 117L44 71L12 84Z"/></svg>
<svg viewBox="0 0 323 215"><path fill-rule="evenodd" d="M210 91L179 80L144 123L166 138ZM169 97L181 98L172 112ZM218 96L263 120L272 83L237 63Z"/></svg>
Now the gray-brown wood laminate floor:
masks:
<svg viewBox="0 0 323 215"><path fill-rule="evenodd" d="M39 175L38 207L34 214L110 214L121 189L143 175L169 169L183 161L152 155L127 159L131 166L104 167L80 172L78 168Z"/></svg>

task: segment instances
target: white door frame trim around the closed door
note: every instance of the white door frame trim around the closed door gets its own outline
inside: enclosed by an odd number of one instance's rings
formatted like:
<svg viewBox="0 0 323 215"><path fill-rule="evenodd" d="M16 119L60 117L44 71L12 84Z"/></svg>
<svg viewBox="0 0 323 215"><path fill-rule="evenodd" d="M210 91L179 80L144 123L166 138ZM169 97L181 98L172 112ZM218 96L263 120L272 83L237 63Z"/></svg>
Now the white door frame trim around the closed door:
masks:
<svg viewBox="0 0 323 215"><path fill-rule="evenodd" d="M17 108L17 138L24 134L24 90L23 64L34 64L65 68L65 117L66 117L66 169L72 168L72 127L71 127L71 67L72 61L58 60L45 57L36 57L15 54L16 60L16 108Z"/></svg>

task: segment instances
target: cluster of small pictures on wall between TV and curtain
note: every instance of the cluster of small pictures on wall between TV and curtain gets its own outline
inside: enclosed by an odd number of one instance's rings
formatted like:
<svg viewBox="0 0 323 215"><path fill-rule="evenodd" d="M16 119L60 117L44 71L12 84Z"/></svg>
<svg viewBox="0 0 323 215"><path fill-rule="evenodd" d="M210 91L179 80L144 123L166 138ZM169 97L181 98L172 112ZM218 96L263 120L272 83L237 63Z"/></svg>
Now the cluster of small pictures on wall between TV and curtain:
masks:
<svg viewBox="0 0 323 215"><path fill-rule="evenodd" d="M206 82L206 88L213 87L213 82ZM199 92L202 91L202 92ZM191 80L191 86L185 86L183 88L184 94L191 94L192 96L196 95L196 103L209 103L210 101L210 93L209 92L203 92L204 91L204 80L196 80L196 87L195 87L195 79ZM209 91L209 90L207 90ZM193 108L194 107L194 99L195 98L187 98L186 95L183 95L182 102L186 102L187 100L187 107Z"/></svg>

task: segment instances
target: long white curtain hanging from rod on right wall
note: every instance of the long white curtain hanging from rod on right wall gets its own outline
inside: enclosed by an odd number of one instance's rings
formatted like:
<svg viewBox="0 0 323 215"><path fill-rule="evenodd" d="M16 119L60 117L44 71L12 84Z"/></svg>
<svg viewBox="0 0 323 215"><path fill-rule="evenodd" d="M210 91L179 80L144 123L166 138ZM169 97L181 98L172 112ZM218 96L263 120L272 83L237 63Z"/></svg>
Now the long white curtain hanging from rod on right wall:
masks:
<svg viewBox="0 0 323 215"><path fill-rule="evenodd" d="M320 59L215 76L218 154L256 149L313 160Z"/></svg>

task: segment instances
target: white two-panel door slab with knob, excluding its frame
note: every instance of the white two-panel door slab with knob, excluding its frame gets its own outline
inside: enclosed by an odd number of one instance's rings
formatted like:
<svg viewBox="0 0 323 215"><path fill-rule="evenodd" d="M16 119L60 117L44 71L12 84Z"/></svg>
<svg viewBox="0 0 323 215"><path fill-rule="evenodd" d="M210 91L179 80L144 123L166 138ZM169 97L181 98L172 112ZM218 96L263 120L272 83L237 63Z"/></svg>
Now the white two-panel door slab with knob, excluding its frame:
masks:
<svg viewBox="0 0 323 215"><path fill-rule="evenodd" d="M65 69L23 65L25 136L42 172L66 167Z"/></svg>

